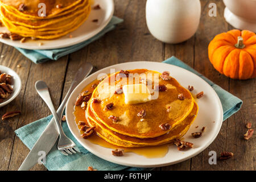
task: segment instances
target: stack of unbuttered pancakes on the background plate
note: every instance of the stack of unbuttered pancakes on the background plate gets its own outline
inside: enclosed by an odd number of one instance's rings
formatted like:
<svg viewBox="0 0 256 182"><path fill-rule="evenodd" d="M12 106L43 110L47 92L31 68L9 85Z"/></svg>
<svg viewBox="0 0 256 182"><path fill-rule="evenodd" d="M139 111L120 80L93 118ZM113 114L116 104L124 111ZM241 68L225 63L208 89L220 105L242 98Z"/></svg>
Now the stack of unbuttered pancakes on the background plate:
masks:
<svg viewBox="0 0 256 182"><path fill-rule="evenodd" d="M13 34L38 39L67 35L85 22L90 11L90 0L0 1L3 26Z"/></svg>

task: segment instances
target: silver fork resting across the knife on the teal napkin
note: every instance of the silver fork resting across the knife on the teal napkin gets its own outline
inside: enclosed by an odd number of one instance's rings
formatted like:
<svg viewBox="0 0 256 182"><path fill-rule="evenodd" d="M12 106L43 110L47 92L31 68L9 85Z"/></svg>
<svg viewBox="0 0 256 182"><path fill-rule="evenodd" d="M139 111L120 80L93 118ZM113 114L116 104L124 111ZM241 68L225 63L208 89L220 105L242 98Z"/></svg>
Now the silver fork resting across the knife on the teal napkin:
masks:
<svg viewBox="0 0 256 182"><path fill-rule="evenodd" d="M76 144L65 135L65 133L61 127L60 117L58 117L58 115L54 109L54 106L53 106L52 100L51 100L51 96L49 95L49 90L48 90L46 83L44 81L37 81L35 83L35 88L36 88L36 91L38 92L39 96L44 100L44 102L46 102L47 106L49 107L49 110L51 110L51 113L55 120L57 129L59 130L60 139L59 139L59 143L57 146L58 150L64 155L76 154L76 152L78 152L75 148Z"/></svg>

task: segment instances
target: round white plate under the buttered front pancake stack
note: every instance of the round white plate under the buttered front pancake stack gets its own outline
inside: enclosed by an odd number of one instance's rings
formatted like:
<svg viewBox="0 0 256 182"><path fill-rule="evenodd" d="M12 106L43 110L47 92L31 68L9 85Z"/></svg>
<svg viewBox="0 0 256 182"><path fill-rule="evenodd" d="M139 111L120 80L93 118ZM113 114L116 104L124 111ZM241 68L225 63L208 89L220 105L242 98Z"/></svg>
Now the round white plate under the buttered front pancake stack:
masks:
<svg viewBox="0 0 256 182"><path fill-rule="evenodd" d="M121 69L137 68L146 68L158 71L160 73L163 71L169 71L171 76L176 78L176 80L179 81L180 84L185 88L187 88L188 85L193 85L195 88L193 93L204 91L204 96L197 100L197 104L199 105L199 113L196 121L193 123L184 138L185 141L194 143L193 148L185 151L178 151L176 146L169 146L169 151L163 158L149 159L131 152L125 153L125 155L122 157L116 157L111 155L112 149L98 146L97 144L93 144L90 141L80 137L80 131L76 126L76 122L73 116L73 107L81 90L90 82L96 80L100 73L110 73L110 69L115 69L115 72L117 72ZM102 159L108 160L109 162L131 167L168 166L192 158L207 148L210 143L213 142L213 140L217 137L218 132L220 131L223 120L223 111L220 99L212 87L202 78L174 65L145 61L113 65L90 75L88 78L82 81L75 90L73 90L73 93L69 97L67 103L66 115L68 127L72 134L88 151ZM195 126L197 125L199 127L196 129ZM203 126L207 127L207 132L204 133L204 135L200 138L193 138L191 133L201 130Z"/></svg>

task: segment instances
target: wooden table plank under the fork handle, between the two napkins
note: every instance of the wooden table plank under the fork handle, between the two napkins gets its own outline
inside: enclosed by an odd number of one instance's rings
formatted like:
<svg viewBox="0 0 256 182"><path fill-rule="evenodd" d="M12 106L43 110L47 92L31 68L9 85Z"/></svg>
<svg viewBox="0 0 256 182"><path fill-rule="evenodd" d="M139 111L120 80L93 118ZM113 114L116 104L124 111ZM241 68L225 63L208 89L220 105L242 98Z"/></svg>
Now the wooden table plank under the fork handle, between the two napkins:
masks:
<svg viewBox="0 0 256 182"><path fill-rule="evenodd" d="M55 108L60 104L61 90L63 89L64 76L68 62L68 56L58 61L48 61L44 64L32 64L27 79L26 93L23 98L22 115L20 115L18 128L28 123L51 114L47 105L39 97L35 90L35 82L38 80L46 81ZM28 60L27 60L28 61ZM29 150L15 137L14 147L10 161L9 170L16 170L26 158ZM36 165L32 170L45 170L43 166Z"/></svg>

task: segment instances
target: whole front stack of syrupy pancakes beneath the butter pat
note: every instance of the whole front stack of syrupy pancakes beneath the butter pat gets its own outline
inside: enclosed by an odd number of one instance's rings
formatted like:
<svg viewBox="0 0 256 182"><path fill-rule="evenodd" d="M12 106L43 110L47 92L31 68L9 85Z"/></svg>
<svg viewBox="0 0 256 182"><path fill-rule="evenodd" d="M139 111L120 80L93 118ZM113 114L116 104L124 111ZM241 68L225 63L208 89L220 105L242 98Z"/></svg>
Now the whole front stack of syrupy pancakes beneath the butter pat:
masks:
<svg viewBox="0 0 256 182"><path fill-rule="evenodd" d="M94 89L85 112L90 127L95 126L99 137L121 147L157 146L183 137L198 111L191 93L170 76L163 79L160 73L147 69L128 72L129 76L124 77L114 73ZM151 89L152 98L158 97L140 104L125 104L125 94L117 90L138 82ZM156 89L160 85L167 89ZM109 103L113 103L112 109L106 107ZM138 115L141 110L146 111L143 117ZM162 125L168 127L163 129Z"/></svg>

